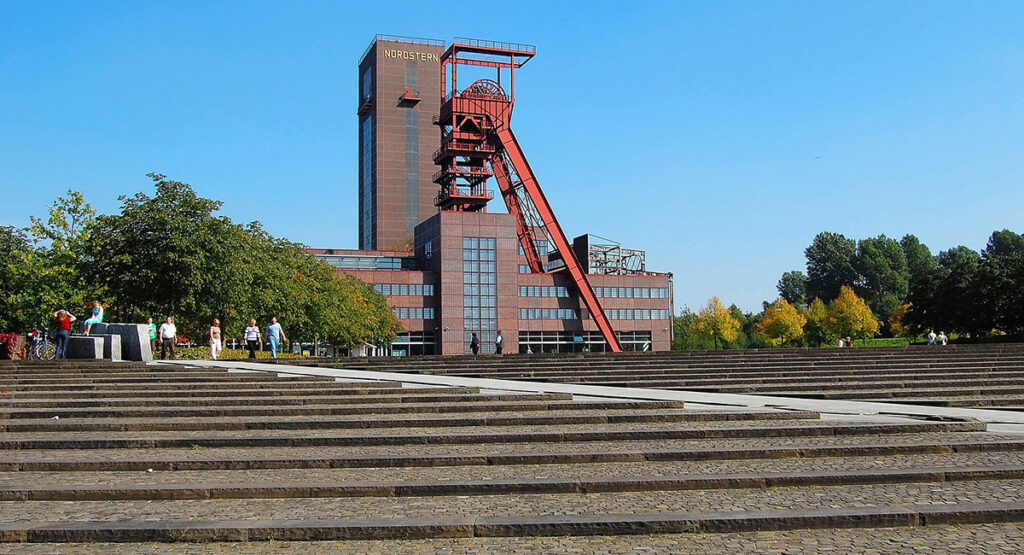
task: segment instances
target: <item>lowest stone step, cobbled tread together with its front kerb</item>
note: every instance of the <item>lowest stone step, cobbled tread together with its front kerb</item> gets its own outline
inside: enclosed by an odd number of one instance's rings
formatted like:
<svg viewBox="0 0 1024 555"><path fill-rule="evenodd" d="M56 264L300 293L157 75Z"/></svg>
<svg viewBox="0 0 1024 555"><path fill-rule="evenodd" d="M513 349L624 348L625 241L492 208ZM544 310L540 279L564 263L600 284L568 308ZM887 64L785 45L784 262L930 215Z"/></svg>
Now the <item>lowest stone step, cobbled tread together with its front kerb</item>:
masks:
<svg viewBox="0 0 1024 555"><path fill-rule="evenodd" d="M1024 503L1016 495L1018 483L972 480L437 496L415 502L406 497L365 496L202 502L9 501L0 502L0 508L16 505L24 520L0 522L0 537L50 542L412 539L1020 521ZM850 499L860 500L859 506L849 506ZM132 517L110 520L112 511Z"/></svg>

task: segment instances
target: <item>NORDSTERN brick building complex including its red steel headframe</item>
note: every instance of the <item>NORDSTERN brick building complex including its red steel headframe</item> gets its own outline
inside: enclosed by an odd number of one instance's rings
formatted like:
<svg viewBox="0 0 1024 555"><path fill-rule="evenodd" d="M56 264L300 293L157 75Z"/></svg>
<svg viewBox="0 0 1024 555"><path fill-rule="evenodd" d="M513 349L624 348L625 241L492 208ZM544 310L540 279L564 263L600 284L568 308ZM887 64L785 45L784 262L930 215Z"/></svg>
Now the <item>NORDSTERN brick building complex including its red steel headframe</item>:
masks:
<svg viewBox="0 0 1024 555"><path fill-rule="evenodd" d="M529 45L379 35L358 63L359 249L310 249L388 297L394 355L668 350L672 274L571 243L512 132ZM459 70L495 79L461 84ZM496 182L506 212L490 212Z"/></svg>

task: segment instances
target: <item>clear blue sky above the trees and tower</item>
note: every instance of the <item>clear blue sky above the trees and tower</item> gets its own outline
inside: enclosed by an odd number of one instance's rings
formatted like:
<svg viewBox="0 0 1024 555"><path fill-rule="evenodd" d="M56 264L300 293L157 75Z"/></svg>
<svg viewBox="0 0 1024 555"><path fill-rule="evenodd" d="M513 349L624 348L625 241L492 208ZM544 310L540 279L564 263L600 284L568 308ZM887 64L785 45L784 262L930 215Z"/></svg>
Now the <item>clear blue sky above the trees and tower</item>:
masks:
<svg viewBox="0 0 1024 555"><path fill-rule="evenodd" d="M679 306L759 311L822 230L1024 231L1022 2L474 5L0 0L0 225L68 188L115 212L156 171L355 248L384 33L536 45L513 126L562 227L645 249Z"/></svg>

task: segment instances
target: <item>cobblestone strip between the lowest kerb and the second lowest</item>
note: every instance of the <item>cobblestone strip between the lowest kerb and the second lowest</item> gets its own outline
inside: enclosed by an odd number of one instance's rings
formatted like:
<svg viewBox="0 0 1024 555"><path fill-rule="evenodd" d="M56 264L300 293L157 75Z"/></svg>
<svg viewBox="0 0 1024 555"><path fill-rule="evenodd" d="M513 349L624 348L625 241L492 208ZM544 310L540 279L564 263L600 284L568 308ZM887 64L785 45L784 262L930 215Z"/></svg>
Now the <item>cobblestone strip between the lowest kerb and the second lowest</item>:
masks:
<svg viewBox="0 0 1024 555"><path fill-rule="evenodd" d="M769 489L705 489L614 494L314 498L194 501L0 502L0 521L314 520L323 518L457 518L476 516L644 514L827 509L958 503L1015 503L1021 480Z"/></svg>

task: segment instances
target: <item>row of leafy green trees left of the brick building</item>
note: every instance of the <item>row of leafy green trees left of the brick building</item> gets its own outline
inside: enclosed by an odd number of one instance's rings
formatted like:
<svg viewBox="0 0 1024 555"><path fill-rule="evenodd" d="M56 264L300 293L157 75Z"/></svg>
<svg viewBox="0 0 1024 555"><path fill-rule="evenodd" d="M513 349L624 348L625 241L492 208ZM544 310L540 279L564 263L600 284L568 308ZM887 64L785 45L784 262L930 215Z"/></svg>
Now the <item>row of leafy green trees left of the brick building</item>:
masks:
<svg viewBox="0 0 1024 555"><path fill-rule="evenodd" d="M45 326L55 309L84 313L98 299L108 322L172 315L191 339L205 337L215 317L228 337L271 315L300 341L384 344L400 331L372 286L339 278L259 222L216 215L222 203L187 183L148 177L153 196L119 197L116 214L97 215L70 190L47 219L0 226L0 330Z"/></svg>

